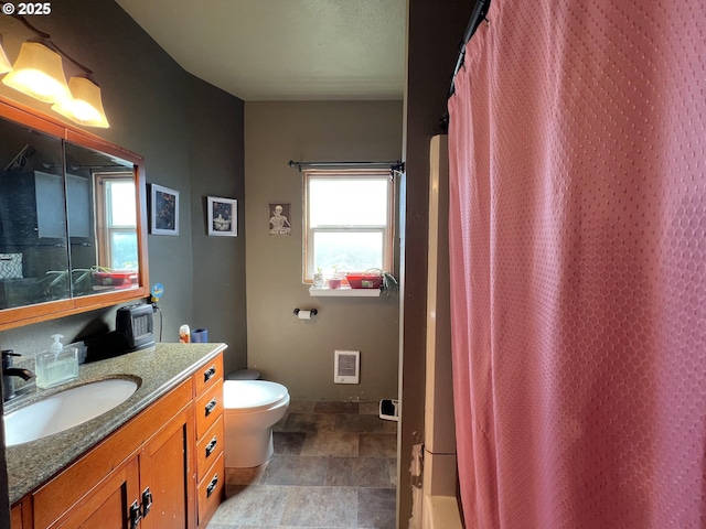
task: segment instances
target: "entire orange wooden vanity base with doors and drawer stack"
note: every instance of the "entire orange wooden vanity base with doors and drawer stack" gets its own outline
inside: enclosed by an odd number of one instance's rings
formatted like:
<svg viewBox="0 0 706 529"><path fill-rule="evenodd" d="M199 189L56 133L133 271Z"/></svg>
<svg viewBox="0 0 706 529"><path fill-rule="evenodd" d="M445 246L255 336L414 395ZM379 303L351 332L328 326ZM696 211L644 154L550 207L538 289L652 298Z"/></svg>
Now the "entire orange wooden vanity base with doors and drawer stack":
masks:
<svg viewBox="0 0 706 529"><path fill-rule="evenodd" d="M218 376L196 385L204 369L214 365ZM223 424L222 374L218 355L13 505L12 529L206 527L224 490L223 434L218 430ZM206 413L213 399L217 403ZM203 410L195 413L199 406ZM205 428L203 439L216 436L203 463L196 462L194 450L203 441L197 438L200 424ZM205 446L203 450L205 454ZM199 464L205 468L200 469Z"/></svg>

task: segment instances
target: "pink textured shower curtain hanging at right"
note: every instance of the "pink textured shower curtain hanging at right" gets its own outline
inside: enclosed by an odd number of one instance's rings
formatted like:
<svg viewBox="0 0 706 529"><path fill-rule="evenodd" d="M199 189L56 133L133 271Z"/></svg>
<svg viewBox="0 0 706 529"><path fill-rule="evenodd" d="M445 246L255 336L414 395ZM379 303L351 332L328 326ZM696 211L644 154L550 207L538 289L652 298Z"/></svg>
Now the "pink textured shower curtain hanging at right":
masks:
<svg viewBox="0 0 706 529"><path fill-rule="evenodd" d="M493 0L449 100L468 529L706 527L706 2Z"/></svg>

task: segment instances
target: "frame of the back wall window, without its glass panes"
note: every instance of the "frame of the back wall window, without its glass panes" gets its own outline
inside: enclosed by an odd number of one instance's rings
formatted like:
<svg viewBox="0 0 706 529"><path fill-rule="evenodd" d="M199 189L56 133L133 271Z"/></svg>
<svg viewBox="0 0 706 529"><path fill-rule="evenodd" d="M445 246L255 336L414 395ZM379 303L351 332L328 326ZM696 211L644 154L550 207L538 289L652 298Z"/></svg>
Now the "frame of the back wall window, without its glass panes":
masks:
<svg viewBox="0 0 706 529"><path fill-rule="evenodd" d="M313 179L319 180L385 180L387 185L387 216L384 226L350 226L350 225L327 225L323 227L312 228L310 226L310 205L311 198L309 193L309 183ZM304 284L313 283L313 235L319 233L382 233L383 237L383 271L393 272L395 263L395 179L389 169L307 169L302 171L303 184L303 215L302 215L302 282ZM346 272L346 270L342 270ZM350 270L362 272L364 270Z"/></svg>

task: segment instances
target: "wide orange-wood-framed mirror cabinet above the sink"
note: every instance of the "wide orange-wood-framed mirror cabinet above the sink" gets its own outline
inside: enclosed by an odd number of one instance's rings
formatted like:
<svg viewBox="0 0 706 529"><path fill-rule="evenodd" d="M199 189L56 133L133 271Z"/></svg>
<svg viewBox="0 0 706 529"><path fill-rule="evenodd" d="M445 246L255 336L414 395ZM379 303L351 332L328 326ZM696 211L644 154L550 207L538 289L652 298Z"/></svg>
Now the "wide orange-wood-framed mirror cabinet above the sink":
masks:
<svg viewBox="0 0 706 529"><path fill-rule="evenodd" d="M0 101L0 330L148 293L142 161Z"/></svg>

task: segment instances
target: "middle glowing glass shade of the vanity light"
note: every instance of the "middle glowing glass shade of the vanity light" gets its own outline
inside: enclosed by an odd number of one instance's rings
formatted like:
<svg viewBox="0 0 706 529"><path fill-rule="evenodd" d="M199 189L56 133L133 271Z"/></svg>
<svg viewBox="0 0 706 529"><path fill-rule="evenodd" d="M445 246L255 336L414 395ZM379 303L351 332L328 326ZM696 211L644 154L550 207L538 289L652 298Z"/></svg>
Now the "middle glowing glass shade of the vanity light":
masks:
<svg viewBox="0 0 706 529"><path fill-rule="evenodd" d="M2 83L44 102L71 99L61 55L40 42L22 44L12 72Z"/></svg>

